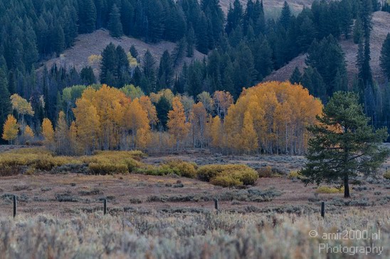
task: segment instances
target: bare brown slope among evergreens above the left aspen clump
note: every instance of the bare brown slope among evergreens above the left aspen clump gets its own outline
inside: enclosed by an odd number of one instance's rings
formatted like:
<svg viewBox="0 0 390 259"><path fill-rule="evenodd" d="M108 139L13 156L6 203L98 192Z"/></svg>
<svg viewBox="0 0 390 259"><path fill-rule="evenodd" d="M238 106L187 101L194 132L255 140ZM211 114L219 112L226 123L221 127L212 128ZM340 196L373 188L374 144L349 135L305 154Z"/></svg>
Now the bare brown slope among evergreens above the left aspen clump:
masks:
<svg viewBox="0 0 390 259"><path fill-rule="evenodd" d="M175 47L175 43L167 41L162 41L157 44L148 44L144 43L142 40L129 38L126 36L123 36L122 38L112 38L108 31L98 30L90 34L78 35L73 48L65 50L64 53L60 55L60 57L43 62L42 65L46 65L48 68L52 67L54 64L57 64L60 67L75 67L75 69L80 72L83 67L90 65L88 63L88 57L90 57L90 55L100 55L104 48L110 43L121 45L126 52L130 50L131 45L135 45L135 48L137 48L141 59L146 51L149 50L156 59L157 65L159 64L159 59L162 57L164 51L168 50L169 53L172 53L172 50L174 50ZM184 62L189 63L192 60L201 60L203 57L204 54L201 54L199 51L195 50L194 57L185 57ZM99 75L99 65L94 64L91 66L93 67L95 75ZM42 67L40 69L42 69Z"/></svg>

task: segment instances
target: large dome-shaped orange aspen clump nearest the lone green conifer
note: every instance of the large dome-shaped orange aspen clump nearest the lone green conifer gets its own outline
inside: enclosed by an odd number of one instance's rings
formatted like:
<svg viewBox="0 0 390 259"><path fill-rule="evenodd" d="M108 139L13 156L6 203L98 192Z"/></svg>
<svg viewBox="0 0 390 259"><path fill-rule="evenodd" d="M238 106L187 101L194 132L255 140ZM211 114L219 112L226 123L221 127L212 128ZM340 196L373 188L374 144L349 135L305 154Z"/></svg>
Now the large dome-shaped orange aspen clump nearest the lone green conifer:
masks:
<svg viewBox="0 0 390 259"><path fill-rule="evenodd" d="M236 104L229 107L223 123L225 138L213 143L244 152L303 153L309 138L306 127L316 123L321 112L321 101L301 85L258 84L244 89Z"/></svg>

